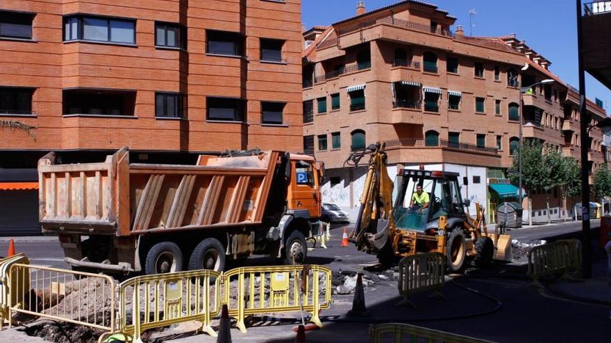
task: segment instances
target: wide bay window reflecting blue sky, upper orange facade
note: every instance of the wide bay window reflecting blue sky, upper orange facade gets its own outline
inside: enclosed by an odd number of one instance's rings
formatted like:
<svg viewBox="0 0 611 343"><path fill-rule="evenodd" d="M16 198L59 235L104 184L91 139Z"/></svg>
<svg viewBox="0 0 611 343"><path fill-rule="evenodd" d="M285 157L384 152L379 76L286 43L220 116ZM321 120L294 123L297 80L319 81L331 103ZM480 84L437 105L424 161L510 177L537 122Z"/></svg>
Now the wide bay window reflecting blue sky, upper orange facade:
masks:
<svg viewBox="0 0 611 343"><path fill-rule="evenodd" d="M135 44L135 26L134 20L79 15L64 17L64 41Z"/></svg>

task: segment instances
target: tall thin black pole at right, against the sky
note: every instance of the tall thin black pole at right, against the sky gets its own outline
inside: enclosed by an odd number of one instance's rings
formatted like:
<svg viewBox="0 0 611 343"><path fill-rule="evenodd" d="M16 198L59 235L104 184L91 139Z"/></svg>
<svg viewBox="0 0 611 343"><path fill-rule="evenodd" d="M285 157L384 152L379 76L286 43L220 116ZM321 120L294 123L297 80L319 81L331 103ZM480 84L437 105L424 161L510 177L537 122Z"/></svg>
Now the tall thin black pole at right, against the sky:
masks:
<svg viewBox="0 0 611 343"><path fill-rule="evenodd" d="M579 112L581 114L580 134L581 134L581 242L583 247L583 278L592 278L592 246L590 244L590 227L589 227L589 180L587 161L587 149L590 122L589 114L586 109L585 100L585 71L583 69L583 30L581 28L581 0L576 0L577 6L577 55L579 67Z"/></svg>

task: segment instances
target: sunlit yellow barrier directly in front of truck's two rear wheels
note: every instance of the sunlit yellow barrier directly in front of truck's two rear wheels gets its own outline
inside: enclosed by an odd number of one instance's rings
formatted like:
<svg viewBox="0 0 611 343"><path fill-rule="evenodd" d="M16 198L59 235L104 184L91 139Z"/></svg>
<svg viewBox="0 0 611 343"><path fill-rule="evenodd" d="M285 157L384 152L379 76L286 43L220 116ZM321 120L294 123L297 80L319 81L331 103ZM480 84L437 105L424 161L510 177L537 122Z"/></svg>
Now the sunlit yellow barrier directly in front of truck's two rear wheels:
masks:
<svg viewBox="0 0 611 343"><path fill-rule="evenodd" d="M149 328L197 320L202 331L216 337L210 320L219 314L220 281L221 274L212 270L128 279L119 285L119 331L142 342L140 335Z"/></svg>

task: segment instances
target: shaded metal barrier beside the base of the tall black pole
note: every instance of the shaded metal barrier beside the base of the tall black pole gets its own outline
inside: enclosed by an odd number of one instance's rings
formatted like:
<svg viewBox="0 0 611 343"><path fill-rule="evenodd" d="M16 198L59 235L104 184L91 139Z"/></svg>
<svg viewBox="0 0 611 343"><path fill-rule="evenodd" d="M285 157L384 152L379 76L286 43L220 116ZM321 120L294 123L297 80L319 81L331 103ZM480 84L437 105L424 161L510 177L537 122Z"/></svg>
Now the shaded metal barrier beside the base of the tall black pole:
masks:
<svg viewBox="0 0 611 343"><path fill-rule="evenodd" d="M539 287L543 276L561 274L569 276L581 267L581 245L577 240L558 240L539 245L528 252L528 276Z"/></svg>

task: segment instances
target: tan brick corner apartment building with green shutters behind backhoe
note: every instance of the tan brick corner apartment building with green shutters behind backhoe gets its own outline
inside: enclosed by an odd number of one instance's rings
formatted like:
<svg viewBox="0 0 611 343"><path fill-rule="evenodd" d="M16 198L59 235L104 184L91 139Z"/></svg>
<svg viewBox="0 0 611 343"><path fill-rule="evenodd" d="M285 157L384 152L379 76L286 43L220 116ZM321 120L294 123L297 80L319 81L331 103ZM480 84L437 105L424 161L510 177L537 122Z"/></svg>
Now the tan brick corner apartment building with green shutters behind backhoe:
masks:
<svg viewBox="0 0 611 343"><path fill-rule="evenodd" d="M421 164L458 172L463 196L486 204L494 222L503 201L494 183L508 182L519 125L524 139L579 154L578 118L567 120L576 115L575 90L549 71L551 62L515 35L468 37L460 26L451 33L454 22L420 1L371 12L359 2L355 17L304 31L303 144L326 162L324 201L355 206L365 168L344 168L343 161L354 149L384 141L390 175ZM520 104L521 87L550 78L522 89ZM605 117L594 103L587 108L593 121ZM594 172L605 163L603 138L598 129L590 136ZM548 198L553 217L572 214L558 189L528 195L535 219L546 218Z"/></svg>

